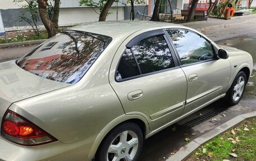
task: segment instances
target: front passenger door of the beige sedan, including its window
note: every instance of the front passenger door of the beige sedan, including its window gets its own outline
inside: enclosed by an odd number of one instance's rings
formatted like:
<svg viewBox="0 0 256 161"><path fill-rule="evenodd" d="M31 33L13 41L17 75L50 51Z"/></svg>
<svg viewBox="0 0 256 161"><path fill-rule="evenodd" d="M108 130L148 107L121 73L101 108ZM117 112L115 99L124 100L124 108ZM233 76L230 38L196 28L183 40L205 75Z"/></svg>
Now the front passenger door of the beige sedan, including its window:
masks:
<svg viewBox="0 0 256 161"><path fill-rule="evenodd" d="M188 81L182 115L221 98L230 80L228 60L218 59L212 43L194 31L173 29L166 32L176 48L181 69Z"/></svg>

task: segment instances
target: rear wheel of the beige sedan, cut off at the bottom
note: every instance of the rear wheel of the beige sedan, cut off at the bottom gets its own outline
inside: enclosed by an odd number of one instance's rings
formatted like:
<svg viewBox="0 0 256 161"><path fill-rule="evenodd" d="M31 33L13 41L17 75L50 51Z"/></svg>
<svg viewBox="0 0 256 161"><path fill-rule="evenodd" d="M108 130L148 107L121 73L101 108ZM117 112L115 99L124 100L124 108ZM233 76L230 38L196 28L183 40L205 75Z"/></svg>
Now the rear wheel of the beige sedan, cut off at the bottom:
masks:
<svg viewBox="0 0 256 161"><path fill-rule="evenodd" d="M100 144L96 161L136 161L143 147L143 132L132 122L113 128Z"/></svg>

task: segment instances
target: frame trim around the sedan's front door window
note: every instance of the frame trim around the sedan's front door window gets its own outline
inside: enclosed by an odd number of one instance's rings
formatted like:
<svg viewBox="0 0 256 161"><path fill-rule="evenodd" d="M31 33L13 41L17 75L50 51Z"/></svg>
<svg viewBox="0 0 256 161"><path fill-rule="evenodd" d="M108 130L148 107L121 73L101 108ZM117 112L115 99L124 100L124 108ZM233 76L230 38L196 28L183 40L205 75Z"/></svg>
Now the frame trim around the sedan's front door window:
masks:
<svg viewBox="0 0 256 161"><path fill-rule="evenodd" d="M176 49L176 47L175 47L171 37L167 33L168 30L185 30L185 31L187 30L187 31L190 31L191 33L199 35L201 38L205 39L209 44L211 44L212 50L213 50L213 54L214 54L214 58L213 59L208 59L208 60L205 60L205 61L200 61L200 62L195 62L195 63L189 63L189 64L186 64L186 65L182 65L179 53L177 52L177 49ZM175 52L175 56L177 58L177 61L179 62L180 67L196 65L198 63L204 63L204 62L214 61L214 60L218 59L217 54L216 54L216 50L214 49L213 44L207 38L205 38L203 35L200 35L199 33L195 33L195 31L192 31L192 30L189 30L189 29L182 29L182 28L176 28L176 27L175 28L171 28L171 29L170 28L169 29L163 29L163 31L164 31L164 34L167 35L167 39L170 41L170 43L172 45L172 48L173 48L173 50Z"/></svg>

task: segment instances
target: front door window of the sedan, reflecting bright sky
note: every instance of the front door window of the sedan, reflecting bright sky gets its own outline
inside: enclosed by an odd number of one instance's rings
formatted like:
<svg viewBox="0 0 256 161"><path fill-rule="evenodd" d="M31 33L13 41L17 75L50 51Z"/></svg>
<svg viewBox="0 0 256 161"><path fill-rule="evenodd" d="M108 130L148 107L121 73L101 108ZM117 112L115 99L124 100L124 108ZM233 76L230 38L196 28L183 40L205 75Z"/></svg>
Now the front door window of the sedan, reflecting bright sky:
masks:
<svg viewBox="0 0 256 161"><path fill-rule="evenodd" d="M207 61L215 58L212 44L188 30L167 30L179 54L181 64Z"/></svg>

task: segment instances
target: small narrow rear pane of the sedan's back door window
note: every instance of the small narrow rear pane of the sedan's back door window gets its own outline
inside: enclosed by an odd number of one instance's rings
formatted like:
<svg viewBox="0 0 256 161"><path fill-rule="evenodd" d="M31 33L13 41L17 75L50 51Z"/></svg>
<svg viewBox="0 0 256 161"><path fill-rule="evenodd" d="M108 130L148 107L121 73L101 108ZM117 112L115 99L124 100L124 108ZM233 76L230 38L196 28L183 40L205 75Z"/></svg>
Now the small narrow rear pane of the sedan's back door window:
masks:
<svg viewBox="0 0 256 161"><path fill-rule="evenodd" d="M116 80L120 81L129 77L140 75L139 68L130 49L126 49L116 71Z"/></svg>

